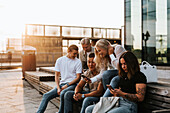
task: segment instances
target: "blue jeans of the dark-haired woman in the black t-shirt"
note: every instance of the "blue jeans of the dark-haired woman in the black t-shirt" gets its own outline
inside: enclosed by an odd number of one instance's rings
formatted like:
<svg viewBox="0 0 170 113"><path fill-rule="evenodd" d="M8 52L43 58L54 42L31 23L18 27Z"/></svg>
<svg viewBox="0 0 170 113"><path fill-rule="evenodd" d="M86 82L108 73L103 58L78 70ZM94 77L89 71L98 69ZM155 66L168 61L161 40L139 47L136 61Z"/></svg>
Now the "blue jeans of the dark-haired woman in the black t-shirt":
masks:
<svg viewBox="0 0 170 113"><path fill-rule="evenodd" d="M92 113L94 106L88 106L85 113ZM137 113L137 104L120 97L119 106L112 108L107 113Z"/></svg>

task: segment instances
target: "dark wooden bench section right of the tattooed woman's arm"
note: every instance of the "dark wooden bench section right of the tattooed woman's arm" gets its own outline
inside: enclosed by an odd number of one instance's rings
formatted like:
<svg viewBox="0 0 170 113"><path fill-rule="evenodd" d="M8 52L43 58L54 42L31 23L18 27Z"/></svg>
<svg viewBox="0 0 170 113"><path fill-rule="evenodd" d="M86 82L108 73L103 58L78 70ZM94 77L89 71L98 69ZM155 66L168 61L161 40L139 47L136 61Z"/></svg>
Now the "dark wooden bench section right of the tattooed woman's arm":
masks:
<svg viewBox="0 0 170 113"><path fill-rule="evenodd" d="M170 84L147 84L145 100L138 109L139 113L170 113Z"/></svg>

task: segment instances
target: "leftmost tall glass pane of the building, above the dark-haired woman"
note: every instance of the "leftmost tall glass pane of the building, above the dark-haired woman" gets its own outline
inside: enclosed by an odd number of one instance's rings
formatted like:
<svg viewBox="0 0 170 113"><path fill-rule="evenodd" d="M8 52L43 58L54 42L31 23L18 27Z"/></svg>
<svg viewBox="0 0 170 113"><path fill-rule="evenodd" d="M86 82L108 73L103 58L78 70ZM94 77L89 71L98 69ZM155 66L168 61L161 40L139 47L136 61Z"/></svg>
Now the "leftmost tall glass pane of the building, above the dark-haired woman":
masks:
<svg viewBox="0 0 170 113"><path fill-rule="evenodd" d="M132 51L141 62L141 2L138 0L126 0L125 6L125 48Z"/></svg>

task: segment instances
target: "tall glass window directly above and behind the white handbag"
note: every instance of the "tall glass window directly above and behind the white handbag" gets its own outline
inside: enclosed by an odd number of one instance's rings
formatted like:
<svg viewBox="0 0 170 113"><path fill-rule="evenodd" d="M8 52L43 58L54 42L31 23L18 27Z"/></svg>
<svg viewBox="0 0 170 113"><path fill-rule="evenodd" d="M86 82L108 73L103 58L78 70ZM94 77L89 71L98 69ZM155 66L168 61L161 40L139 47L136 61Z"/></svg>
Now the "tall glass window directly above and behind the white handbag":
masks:
<svg viewBox="0 0 170 113"><path fill-rule="evenodd" d="M144 60L167 63L167 0L143 0ZM149 33L147 38L146 32Z"/></svg>

